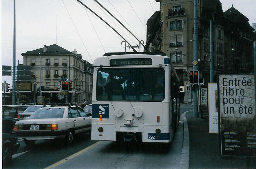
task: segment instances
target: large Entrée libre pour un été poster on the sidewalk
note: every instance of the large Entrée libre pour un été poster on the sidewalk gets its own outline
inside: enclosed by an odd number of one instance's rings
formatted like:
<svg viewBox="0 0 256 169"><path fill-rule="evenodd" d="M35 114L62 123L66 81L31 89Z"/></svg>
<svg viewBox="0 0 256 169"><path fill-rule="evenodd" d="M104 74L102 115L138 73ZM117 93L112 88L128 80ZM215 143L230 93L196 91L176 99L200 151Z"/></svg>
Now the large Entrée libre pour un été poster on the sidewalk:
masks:
<svg viewBox="0 0 256 169"><path fill-rule="evenodd" d="M221 155L256 156L253 74L218 79Z"/></svg>

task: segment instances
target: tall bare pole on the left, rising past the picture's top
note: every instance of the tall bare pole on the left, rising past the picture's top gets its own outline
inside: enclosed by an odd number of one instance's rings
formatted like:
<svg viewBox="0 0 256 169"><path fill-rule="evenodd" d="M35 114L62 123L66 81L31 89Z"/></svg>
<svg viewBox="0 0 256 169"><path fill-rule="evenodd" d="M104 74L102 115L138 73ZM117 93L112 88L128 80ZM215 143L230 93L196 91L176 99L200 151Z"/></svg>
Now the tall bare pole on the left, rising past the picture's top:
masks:
<svg viewBox="0 0 256 169"><path fill-rule="evenodd" d="M15 38L15 0L14 0L14 10L13 10L13 58L12 58L12 105L15 105L15 67L16 67L16 38ZM14 109L13 109L14 110Z"/></svg>

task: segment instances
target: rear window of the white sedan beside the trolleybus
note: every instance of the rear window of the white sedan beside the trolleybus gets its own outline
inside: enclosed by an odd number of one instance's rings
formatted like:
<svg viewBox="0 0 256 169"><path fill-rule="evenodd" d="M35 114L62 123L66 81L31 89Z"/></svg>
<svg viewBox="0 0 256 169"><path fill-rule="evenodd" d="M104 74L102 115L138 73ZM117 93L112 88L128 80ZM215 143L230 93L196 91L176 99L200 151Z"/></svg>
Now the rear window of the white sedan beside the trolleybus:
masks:
<svg viewBox="0 0 256 169"><path fill-rule="evenodd" d="M44 108L34 112L29 119L58 119L63 117L64 108Z"/></svg>

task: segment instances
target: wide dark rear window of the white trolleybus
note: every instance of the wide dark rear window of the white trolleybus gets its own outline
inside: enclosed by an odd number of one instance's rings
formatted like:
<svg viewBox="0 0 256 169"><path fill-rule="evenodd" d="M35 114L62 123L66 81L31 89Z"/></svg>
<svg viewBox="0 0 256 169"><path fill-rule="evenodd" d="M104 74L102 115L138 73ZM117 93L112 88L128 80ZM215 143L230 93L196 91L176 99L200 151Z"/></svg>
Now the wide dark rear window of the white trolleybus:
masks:
<svg viewBox="0 0 256 169"><path fill-rule="evenodd" d="M163 68L102 68L97 72L98 101L162 102Z"/></svg>

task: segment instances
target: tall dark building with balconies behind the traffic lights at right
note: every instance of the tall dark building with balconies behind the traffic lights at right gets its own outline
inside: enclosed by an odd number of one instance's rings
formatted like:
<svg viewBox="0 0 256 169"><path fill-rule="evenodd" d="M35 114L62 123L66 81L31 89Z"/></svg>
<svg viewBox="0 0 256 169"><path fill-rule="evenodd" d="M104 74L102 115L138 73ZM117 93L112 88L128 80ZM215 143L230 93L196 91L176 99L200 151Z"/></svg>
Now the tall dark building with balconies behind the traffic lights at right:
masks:
<svg viewBox="0 0 256 169"><path fill-rule="evenodd" d="M160 11L147 21L146 46L169 56L180 78L180 85L190 85L188 72L194 60L194 0L156 0ZM223 73L250 73L255 33L248 18L233 6L222 11L219 0L198 0L199 77L210 82L210 20L213 20L214 82ZM242 60L244 62L242 63ZM191 101L191 90L180 95Z"/></svg>

